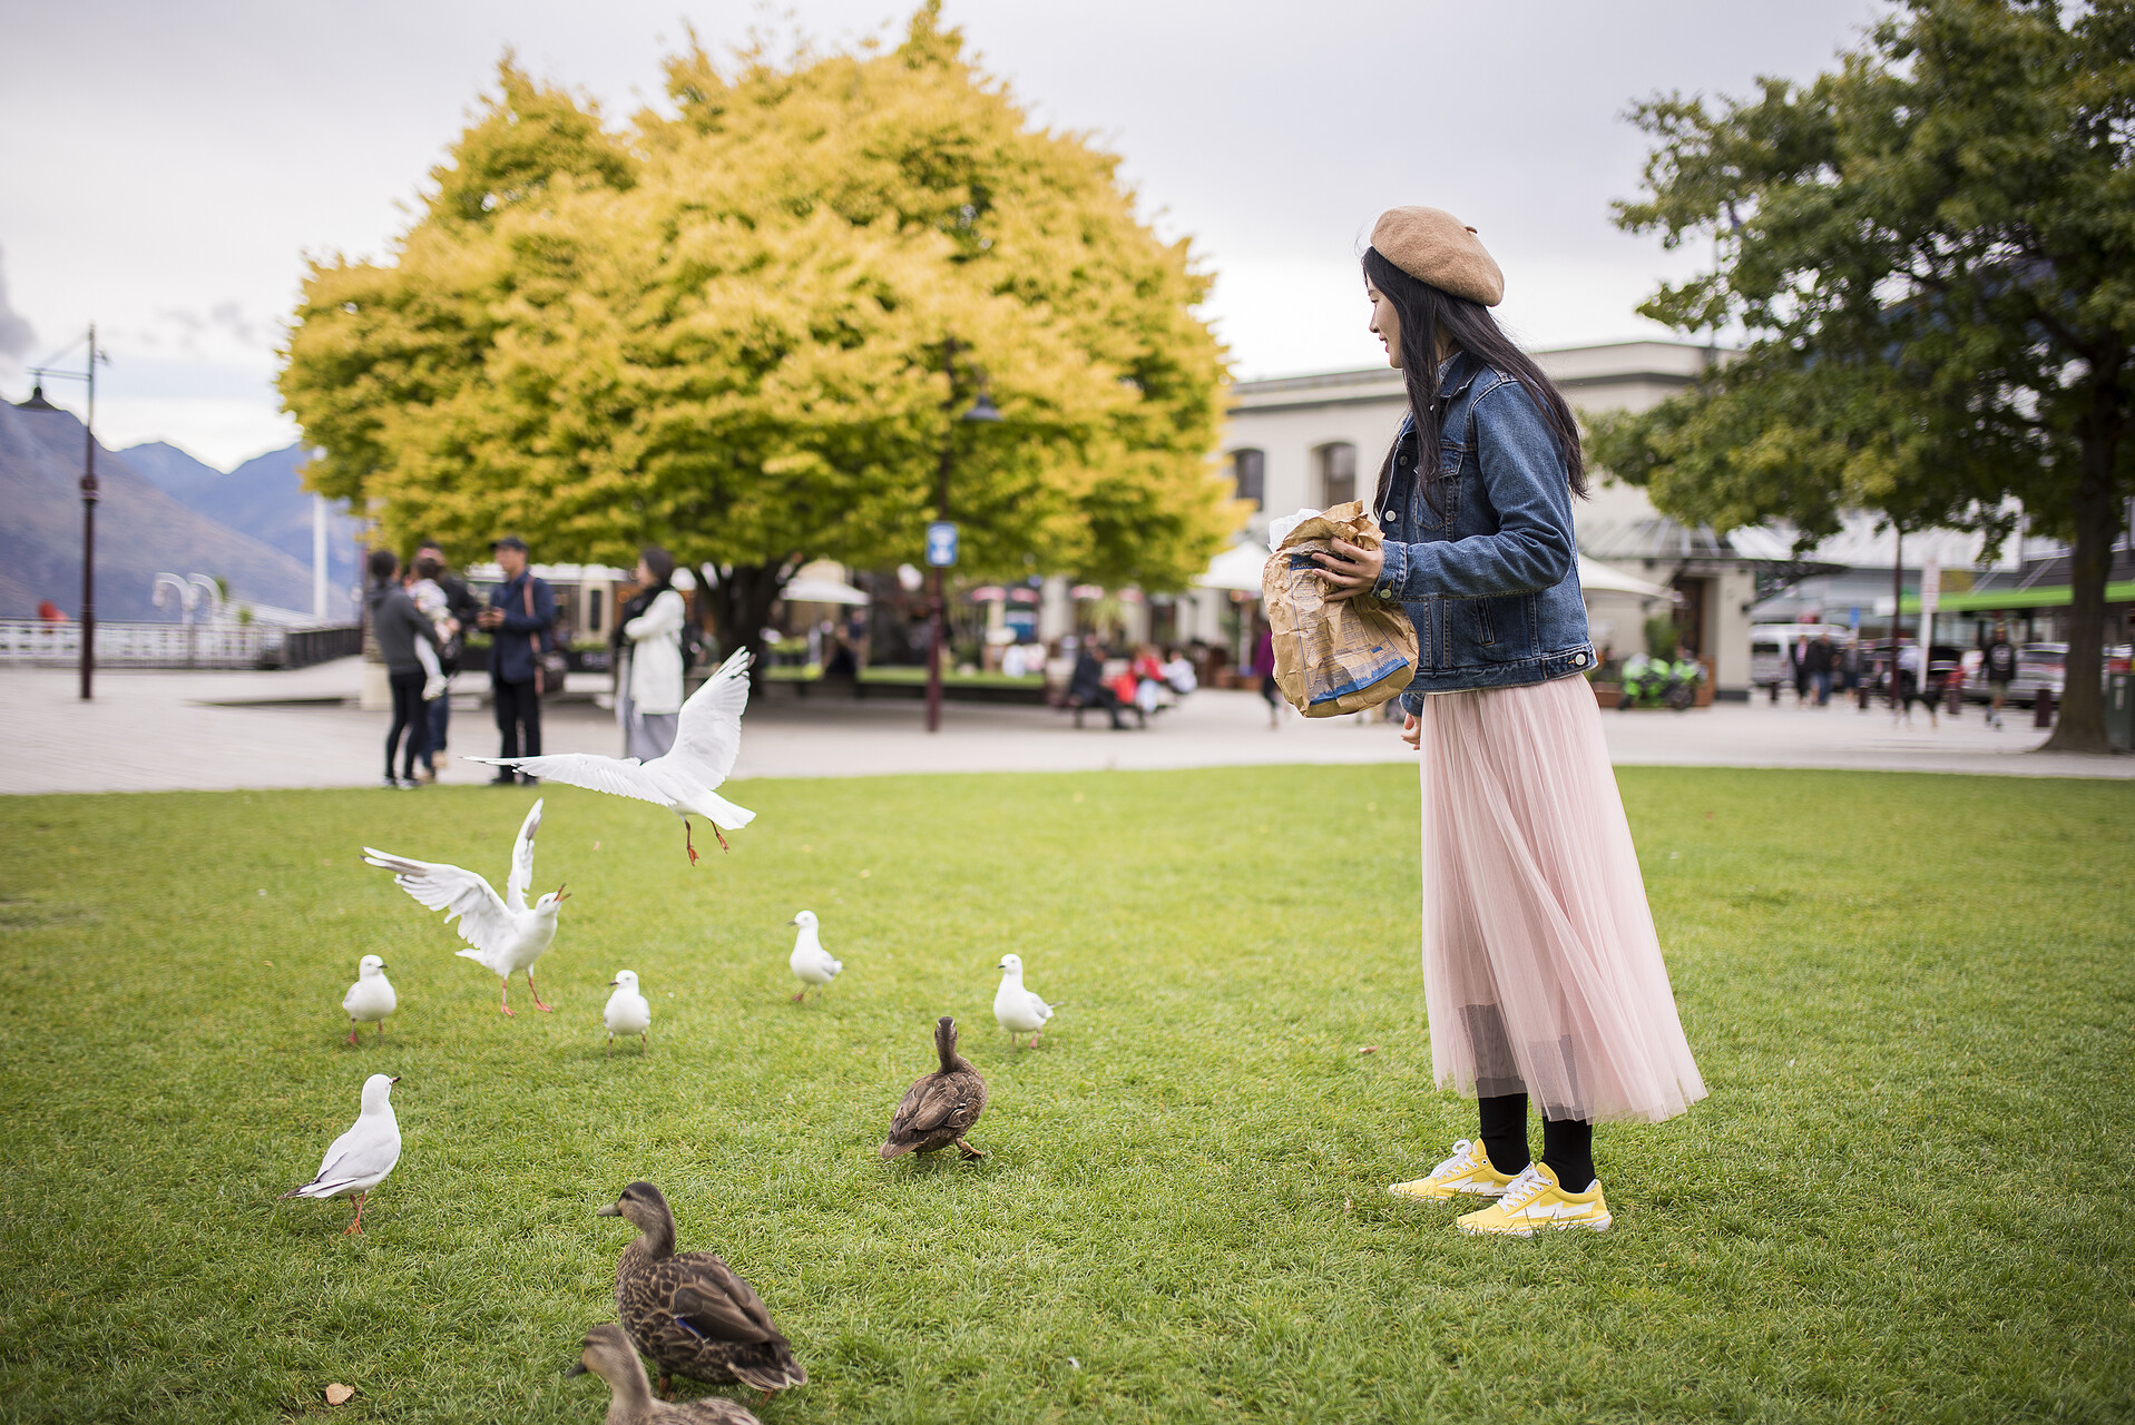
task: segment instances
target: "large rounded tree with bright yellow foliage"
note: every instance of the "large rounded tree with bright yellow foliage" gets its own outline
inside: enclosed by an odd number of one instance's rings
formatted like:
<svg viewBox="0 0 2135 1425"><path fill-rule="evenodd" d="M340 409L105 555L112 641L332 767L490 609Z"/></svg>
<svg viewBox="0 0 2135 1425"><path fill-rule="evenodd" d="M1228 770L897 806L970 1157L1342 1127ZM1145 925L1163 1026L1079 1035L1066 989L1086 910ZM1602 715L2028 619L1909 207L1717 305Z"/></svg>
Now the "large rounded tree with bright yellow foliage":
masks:
<svg viewBox="0 0 2135 1425"><path fill-rule="evenodd" d="M890 49L668 62L628 132L510 60L391 262L312 267L282 395L389 535L660 542L756 642L807 559L1179 589L1236 527L1208 277L924 4ZM1003 420L959 420L986 393Z"/></svg>

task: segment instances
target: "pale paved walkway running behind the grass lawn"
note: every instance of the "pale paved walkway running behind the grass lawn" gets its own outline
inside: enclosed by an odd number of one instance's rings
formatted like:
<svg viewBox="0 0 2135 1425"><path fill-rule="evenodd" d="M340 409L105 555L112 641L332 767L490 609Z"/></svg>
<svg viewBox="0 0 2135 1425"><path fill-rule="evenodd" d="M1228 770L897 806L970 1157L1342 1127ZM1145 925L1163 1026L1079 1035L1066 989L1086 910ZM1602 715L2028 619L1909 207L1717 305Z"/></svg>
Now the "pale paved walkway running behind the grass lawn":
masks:
<svg viewBox="0 0 2135 1425"><path fill-rule="evenodd" d="M96 700L75 698L75 674L0 670L0 794L171 791L220 787L363 787L380 776L386 717L352 706L354 659L301 672L102 672ZM865 776L880 772L1074 772L1253 764L1401 762L1386 723L1307 721L1285 710L1268 727L1253 693L1202 691L1146 732L1110 732L1102 715L1076 730L1048 708L946 704L937 736L918 702L794 700L775 689L743 723L734 776ZM2045 732L2011 710L1990 730L1977 708L1913 725L1887 710L1798 710L1719 704L1695 712L1603 712L1620 766L1768 766L2015 776L2135 776L2135 757L2035 753ZM553 704L547 751L617 751L611 712ZM489 710L455 700L453 749L495 749ZM448 762L446 783L491 768Z"/></svg>

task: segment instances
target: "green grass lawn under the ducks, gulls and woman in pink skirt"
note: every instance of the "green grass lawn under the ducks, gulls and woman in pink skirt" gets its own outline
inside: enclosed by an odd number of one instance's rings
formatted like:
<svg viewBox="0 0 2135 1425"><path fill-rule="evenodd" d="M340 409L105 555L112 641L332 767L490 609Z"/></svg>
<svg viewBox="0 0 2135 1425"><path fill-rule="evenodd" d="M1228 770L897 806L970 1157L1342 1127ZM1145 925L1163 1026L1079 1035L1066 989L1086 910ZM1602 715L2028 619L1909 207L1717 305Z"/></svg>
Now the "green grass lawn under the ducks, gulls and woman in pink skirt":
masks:
<svg viewBox="0 0 2135 1425"><path fill-rule="evenodd" d="M749 783L698 870L549 789L517 1020L357 849L502 883L525 794L0 800L0 1419L598 1421L632 1178L792 1335L775 1425L2129 1419L2135 785L1623 785L1712 1096L1597 1131L1616 1231L1544 1242L1386 1197L1473 1133L1401 766ZM803 907L845 973L794 1005ZM1070 1000L1035 1052L1006 949ZM882 1165L937 1013L991 1156ZM344 1237L275 1195L374 1071L406 1148Z"/></svg>

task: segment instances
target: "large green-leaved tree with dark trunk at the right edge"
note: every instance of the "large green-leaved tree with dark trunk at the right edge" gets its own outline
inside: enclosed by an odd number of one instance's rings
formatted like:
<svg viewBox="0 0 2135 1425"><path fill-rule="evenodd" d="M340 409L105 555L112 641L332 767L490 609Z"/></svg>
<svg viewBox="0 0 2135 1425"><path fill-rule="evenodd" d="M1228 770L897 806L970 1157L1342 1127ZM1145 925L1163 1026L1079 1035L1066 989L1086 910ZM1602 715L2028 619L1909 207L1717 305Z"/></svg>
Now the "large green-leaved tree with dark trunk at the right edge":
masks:
<svg viewBox="0 0 2135 1425"><path fill-rule="evenodd" d="M1838 73L1652 98L1616 220L1717 271L1640 307L1749 346L1593 457L1719 529L1845 510L2073 546L2050 747L2103 751L2112 546L2135 493L2135 4L1909 0Z"/></svg>

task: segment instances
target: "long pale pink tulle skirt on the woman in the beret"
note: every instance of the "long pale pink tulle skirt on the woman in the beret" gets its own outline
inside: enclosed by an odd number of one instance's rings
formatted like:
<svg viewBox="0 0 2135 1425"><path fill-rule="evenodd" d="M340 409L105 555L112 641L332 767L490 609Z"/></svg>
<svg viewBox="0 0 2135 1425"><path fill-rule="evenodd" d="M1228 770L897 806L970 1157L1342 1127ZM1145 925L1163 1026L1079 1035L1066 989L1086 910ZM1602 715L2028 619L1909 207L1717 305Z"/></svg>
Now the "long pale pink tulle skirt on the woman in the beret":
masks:
<svg viewBox="0 0 2135 1425"><path fill-rule="evenodd" d="M1439 1084L1586 1120L1704 1099L1586 681L1435 693L1420 744Z"/></svg>

